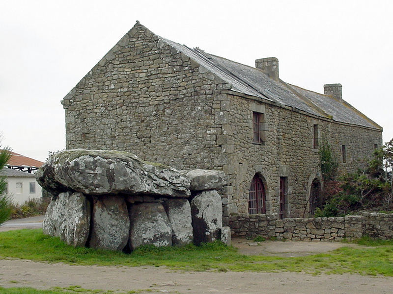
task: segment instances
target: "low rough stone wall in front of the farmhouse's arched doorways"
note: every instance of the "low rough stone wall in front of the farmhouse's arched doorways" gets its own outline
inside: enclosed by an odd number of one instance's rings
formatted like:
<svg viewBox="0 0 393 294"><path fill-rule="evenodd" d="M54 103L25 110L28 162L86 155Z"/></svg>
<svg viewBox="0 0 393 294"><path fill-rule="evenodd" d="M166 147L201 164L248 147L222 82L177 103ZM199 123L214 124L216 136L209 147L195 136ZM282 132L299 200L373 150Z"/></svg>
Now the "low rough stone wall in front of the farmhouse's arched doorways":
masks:
<svg viewBox="0 0 393 294"><path fill-rule="evenodd" d="M384 213L283 220L277 220L277 215L235 215L230 216L229 226L234 237L263 236L292 241L337 241L364 235L379 239L393 238L393 214Z"/></svg>

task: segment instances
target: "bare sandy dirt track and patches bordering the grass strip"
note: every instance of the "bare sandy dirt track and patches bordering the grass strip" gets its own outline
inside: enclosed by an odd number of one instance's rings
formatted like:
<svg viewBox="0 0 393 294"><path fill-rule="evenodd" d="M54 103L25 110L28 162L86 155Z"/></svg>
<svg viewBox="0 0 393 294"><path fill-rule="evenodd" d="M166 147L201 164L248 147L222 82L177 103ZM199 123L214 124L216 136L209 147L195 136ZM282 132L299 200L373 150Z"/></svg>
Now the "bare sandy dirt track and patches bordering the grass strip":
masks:
<svg viewBox="0 0 393 294"><path fill-rule="evenodd" d="M23 227L37 219L19 221ZM35 224L34 224L35 223ZM12 226L0 227L1 230ZM21 228L18 225L13 226ZM343 246L333 242L263 242L259 245L245 239L234 239L232 245L243 254L302 256L327 252ZM140 293L176 294L391 294L393 278L357 274L309 275L305 273L260 272L183 272L166 267L85 267L48 264L28 260L0 260L0 286L52 287L81 286L86 289L113 291L146 290Z"/></svg>

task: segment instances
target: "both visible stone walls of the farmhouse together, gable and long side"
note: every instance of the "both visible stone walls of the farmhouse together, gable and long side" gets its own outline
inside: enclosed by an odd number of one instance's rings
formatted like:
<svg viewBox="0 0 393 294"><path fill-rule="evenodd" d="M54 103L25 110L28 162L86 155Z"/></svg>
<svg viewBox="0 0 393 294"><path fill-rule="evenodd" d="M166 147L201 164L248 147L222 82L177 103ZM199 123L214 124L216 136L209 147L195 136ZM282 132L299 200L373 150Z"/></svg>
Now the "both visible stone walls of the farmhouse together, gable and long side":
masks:
<svg viewBox="0 0 393 294"><path fill-rule="evenodd" d="M280 177L287 177L287 217L307 215L311 182L321 180L313 125L337 157L355 170L381 146L370 128L321 120L248 96L199 66L142 25L135 25L63 99L66 147L114 149L176 169L224 171L224 219L248 213L258 173L268 214L278 213ZM253 144L253 111L265 115L266 140ZM227 205L226 205L227 204Z"/></svg>

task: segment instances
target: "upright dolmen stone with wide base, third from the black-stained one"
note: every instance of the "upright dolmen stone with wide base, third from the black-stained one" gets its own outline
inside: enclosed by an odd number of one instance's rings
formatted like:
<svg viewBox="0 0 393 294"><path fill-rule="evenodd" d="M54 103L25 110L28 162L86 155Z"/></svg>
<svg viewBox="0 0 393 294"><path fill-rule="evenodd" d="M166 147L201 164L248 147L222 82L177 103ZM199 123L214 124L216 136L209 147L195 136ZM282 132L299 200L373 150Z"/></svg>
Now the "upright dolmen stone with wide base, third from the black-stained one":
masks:
<svg viewBox="0 0 393 294"><path fill-rule="evenodd" d="M171 246L172 228L161 203L143 202L130 207L131 250L141 245Z"/></svg>

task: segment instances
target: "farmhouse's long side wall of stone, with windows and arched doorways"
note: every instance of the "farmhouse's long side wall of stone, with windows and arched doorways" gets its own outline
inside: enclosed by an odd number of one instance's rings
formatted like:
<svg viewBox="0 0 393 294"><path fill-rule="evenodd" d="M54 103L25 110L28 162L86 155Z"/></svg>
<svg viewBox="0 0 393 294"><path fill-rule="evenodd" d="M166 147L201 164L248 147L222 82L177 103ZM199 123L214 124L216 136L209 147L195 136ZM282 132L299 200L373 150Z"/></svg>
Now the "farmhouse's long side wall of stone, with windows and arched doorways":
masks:
<svg viewBox="0 0 393 294"><path fill-rule="evenodd" d="M231 125L217 139L232 150L223 162L223 171L232 186L224 193L228 195L230 213L248 213L250 183L258 173L265 186L267 213L278 213L280 177L287 177L287 217L308 216L311 182L314 178L322 182L319 148L313 148L314 124L318 125L319 142L330 143L339 162L339 172L363 168L374 144L382 144L382 133L370 128L322 120L251 98L228 95L224 102L222 111ZM252 115L258 108L263 111L266 123L263 144L252 142ZM345 163L342 145L346 146Z"/></svg>

